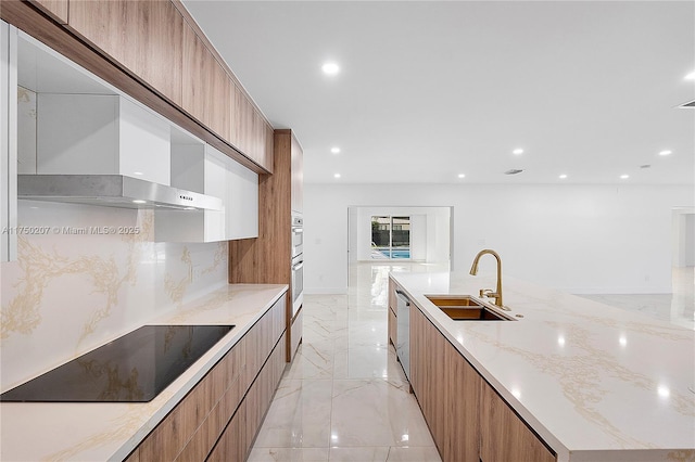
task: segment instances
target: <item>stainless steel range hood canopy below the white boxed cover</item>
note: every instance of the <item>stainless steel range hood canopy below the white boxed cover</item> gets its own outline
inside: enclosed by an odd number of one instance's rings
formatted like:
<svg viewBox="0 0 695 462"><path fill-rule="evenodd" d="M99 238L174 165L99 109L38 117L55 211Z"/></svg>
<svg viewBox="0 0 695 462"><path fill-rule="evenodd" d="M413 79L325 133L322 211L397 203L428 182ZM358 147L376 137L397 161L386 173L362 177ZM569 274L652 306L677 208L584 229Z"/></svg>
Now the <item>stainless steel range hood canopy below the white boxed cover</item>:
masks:
<svg viewBox="0 0 695 462"><path fill-rule="evenodd" d="M123 175L18 175L17 196L121 208L222 210L218 197Z"/></svg>

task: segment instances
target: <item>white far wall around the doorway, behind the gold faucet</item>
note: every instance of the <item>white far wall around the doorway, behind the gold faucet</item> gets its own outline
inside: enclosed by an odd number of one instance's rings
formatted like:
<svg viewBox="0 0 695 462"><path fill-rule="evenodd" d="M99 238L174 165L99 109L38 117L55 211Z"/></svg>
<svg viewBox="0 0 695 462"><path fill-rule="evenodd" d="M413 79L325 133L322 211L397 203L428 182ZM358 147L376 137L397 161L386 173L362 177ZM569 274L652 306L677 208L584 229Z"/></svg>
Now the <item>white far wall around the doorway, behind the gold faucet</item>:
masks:
<svg viewBox="0 0 695 462"><path fill-rule="evenodd" d="M348 208L452 206L452 265L489 247L505 274L573 293L669 293L671 209L692 185L305 184L307 293L344 293ZM481 261L481 272L493 270Z"/></svg>

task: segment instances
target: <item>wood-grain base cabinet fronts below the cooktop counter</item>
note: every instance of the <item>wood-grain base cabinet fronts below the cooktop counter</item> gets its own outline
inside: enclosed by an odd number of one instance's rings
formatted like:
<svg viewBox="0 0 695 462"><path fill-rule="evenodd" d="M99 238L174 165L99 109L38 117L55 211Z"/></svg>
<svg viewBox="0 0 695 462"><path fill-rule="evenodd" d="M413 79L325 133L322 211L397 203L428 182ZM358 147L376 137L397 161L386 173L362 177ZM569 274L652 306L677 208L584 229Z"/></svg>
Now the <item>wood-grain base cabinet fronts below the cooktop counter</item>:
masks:
<svg viewBox="0 0 695 462"><path fill-rule="evenodd" d="M127 461L243 460L285 370L285 309L281 297Z"/></svg>

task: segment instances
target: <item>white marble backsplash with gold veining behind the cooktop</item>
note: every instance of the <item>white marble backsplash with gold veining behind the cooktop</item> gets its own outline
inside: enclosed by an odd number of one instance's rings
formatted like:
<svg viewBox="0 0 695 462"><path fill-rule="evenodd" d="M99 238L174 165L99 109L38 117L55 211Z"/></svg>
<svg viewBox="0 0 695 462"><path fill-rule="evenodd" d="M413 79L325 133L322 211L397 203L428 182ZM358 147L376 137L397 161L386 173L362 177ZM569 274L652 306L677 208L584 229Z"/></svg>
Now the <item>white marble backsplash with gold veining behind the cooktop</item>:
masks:
<svg viewBox="0 0 695 462"><path fill-rule="evenodd" d="M227 284L227 243L154 242L153 210L20 201L0 264L4 392Z"/></svg>

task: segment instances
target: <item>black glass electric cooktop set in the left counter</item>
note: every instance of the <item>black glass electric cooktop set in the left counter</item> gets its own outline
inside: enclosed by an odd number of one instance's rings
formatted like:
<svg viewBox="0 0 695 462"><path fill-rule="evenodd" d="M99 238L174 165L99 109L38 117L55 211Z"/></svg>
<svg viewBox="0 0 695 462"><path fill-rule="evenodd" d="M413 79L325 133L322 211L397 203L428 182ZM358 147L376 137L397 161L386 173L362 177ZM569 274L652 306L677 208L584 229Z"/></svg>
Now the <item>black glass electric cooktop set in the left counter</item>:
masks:
<svg viewBox="0 0 695 462"><path fill-rule="evenodd" d="M233 325L144 325L0 395L0 401L148 402Z"/></svg>

